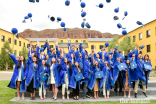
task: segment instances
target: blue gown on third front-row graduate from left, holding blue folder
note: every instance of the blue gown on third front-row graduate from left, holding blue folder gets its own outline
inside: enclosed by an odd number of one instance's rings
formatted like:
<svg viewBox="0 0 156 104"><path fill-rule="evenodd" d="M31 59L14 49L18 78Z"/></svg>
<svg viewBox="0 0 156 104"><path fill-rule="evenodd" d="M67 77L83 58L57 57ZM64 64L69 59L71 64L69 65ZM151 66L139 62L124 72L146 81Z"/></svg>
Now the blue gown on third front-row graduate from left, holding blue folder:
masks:
<svg viewBox="0 0 156 104"><path fill-rule="evenodd" d="M47 77L48 77L48 68L45 66L45 69L44 69L44 67L43 66L41 66L40 68L39 68L39 76L42 74L42 73L46 73L47 74ZM44 82L43 82L43 85L44 85L44 89L47 89L47 81L48 81L48 79L46 79ZM39 87L41 87L41 83L42 83L42 80L40 79L40 77L39 77Z"/></svg>

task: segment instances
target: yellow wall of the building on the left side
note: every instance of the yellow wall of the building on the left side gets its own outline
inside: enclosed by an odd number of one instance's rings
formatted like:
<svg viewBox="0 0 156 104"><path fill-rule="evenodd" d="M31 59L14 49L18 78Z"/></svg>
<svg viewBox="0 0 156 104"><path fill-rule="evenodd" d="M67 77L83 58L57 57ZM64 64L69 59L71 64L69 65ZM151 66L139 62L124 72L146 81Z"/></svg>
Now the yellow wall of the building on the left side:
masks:
<svg viewBox="0 0 156 104"><path fill-rule="evenodd" d="M25 47L27 47L27 44L29 44L29 41L27 39L22 37L19 37L19 39L17 39L16 36L13 35L12 33L0 29L0 36L2 35L5 37L4 42L8 41L8 38L11 38L10 47L12 48L13 53L16 50L16 56L19 56L19 52L22 50L24 43L25 43ZM14 40L16 40L16 45L14 45ZM21 46L19 46L19 41L21 42ZM0 52L4 42L0 40Z"/></svg>

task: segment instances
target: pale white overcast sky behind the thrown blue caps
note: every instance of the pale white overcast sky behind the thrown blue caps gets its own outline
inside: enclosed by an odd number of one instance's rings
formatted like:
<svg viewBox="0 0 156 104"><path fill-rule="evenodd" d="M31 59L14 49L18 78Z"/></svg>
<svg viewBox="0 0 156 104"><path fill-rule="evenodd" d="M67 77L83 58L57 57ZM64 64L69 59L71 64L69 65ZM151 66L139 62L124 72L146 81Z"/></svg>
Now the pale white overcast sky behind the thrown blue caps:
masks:
<svg viewBox="0 0 156 104"><path fill-rule="evenodd" d="M91 25L90 30L100 31L102 33L121 34L122 29L117 28L121 23L130 32L138 27L136 21L146 24L156 18L156 0L82 0L86 3L83 9L87 15L86 22ZM104 4L103 8L96 5ZM114 9L119 7L119 12ZM61 17L65 22L66 28L81 28L83 19L81 17L80 0L70 0L70 5L65 5L65 0L40 0L39 3L30 3L29 0L0 0L0 28L11 32L12 28L17 28L18 32L25 29L41 31L44 29L62 28L61 22L52 22L48 15L55 18ZM128 16L124 17L124 12ZM24 17L32 13L32 22L22 23ZM114 21L113 17L118 16L119 20ZM85 27L86 28L86 27Z"/></svg>

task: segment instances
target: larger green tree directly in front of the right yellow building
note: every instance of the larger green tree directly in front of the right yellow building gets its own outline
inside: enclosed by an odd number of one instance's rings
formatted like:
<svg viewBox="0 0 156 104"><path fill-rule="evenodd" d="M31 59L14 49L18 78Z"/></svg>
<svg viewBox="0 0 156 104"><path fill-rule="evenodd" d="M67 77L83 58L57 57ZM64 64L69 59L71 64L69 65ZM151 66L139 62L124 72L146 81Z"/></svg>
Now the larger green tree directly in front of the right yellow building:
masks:
<svg viewBox="0 0 156 104"><path fill-rule="evenodd" d="M136 46L136 43L132 42L132 39L130 39L125 36L123 40L120 42L118 49L121 49L122 51L128 52L130 49L134 50Z"/></svg>

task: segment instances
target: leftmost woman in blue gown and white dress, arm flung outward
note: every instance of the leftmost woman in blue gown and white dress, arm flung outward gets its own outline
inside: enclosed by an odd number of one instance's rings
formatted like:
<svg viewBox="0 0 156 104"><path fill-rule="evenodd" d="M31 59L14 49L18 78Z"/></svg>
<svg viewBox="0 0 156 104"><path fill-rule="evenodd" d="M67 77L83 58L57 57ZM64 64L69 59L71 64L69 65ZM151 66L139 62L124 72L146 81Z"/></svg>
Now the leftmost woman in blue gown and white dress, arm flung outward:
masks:
<svg viewBox="0 0 156 104"><path fill-rule="evenodd" d="M24 100L24 92L26 92L25 90L25 78L26 78L25 57L20 56L19 61L18 61L16 60L16 56L14 54L10 54L9 50L5 49L5 51L9 54L9 56L15 63L14 73L7 87L17 89L17 96L18 96L17 100L20 100L20 92L22 92L22 100Z"/></svg>

